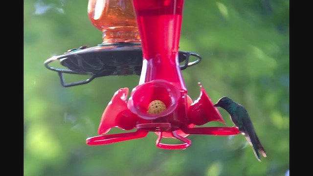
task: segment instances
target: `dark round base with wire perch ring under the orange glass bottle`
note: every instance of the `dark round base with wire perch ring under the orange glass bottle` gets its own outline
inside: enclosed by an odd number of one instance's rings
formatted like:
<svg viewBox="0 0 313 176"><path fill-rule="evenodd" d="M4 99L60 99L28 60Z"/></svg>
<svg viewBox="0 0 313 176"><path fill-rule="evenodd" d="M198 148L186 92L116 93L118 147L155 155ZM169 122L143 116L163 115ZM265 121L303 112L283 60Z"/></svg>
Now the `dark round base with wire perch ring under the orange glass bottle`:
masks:
<svg viewBox="0 0 313 176"><path fill-rule="evenodd" d="M197 59L193 62L189 62L190 56L194 56ZM201 60L201 56L197 53L179 51L179 63L183 63L180 65L181 70L189 66L197 65ZM49 65L57 61L68 69ZM47 59L44 64L46 68L58 72L63 87L72 87L87 84L96 77L140 75L142 67L142 49L140 43L99 44L94 47L85 45L78 49L70 49L63 55L53 56ZM83 81L66 83L64 73L90 75L90 78Z"/></svg>

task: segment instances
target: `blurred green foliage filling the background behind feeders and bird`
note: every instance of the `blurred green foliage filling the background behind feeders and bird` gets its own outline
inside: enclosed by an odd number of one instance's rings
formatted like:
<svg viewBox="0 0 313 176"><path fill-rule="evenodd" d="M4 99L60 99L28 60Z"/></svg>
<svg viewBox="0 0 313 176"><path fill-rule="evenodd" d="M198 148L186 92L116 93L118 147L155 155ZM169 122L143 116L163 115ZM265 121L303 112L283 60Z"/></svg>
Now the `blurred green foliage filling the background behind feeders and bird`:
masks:
<svg viewBox="0 0 313 176"><path fill-rule="evenodd" d="M190 135L186 150L162 150L156 135L88 146L118 88L138 76L64 88L46 59L102 42L88 0L24 1L24 176L284 176L290 163L289 0L185 0L180 50L203 60L183 70L188 94L201 82L213 102L229 96L249 111L268 157L242 135ZM86 77L71 77L71 80ZM227 126L233 124L219 109ZM213 122L212 122L213 123ZM213 124L217 125L217 124ZM119 129L113 132L121 132Z"/></svg>

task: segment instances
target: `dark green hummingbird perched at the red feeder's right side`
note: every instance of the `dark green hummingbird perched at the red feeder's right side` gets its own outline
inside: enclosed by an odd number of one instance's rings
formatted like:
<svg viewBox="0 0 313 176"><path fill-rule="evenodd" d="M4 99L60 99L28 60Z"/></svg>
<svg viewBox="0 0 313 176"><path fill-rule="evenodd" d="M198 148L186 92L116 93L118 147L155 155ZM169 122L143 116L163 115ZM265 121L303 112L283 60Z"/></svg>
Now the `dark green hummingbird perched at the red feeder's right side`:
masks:
<svg viewBox="0 0 313 176"><path fill-rule="evenodd" d="M221 107L229 113L230 120L234 123L235 127L245 135L246 140L253 149L255 157L259 161L261 161L259 152L262 153L263 157L267 157L265 150L256 135L250 116L244 106L234 102L226 96L220 98L214 106Z"/></svg>

